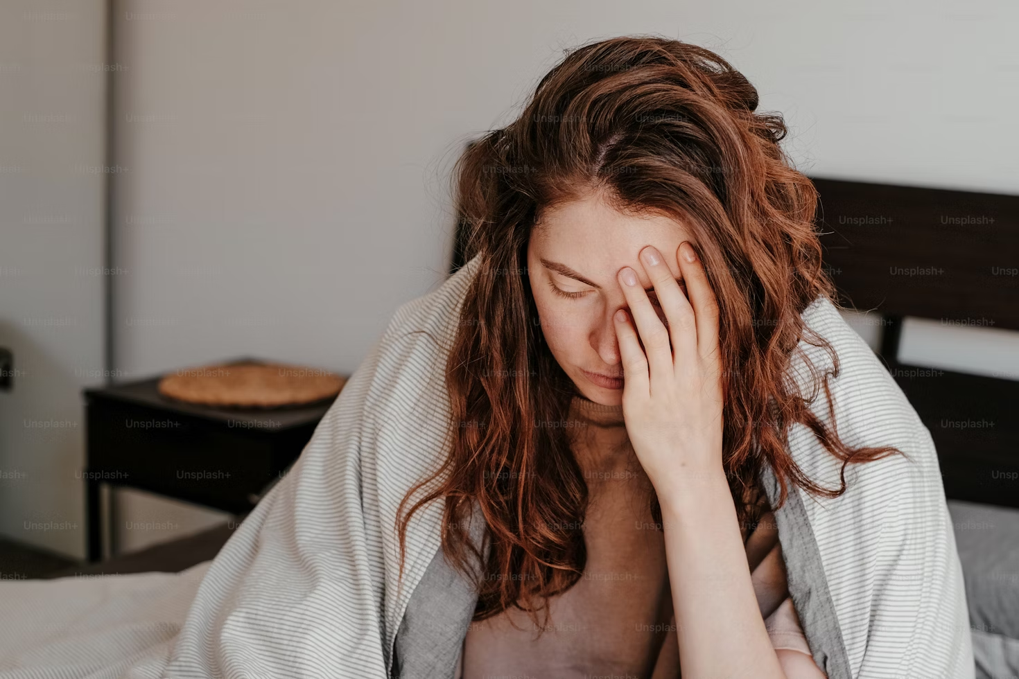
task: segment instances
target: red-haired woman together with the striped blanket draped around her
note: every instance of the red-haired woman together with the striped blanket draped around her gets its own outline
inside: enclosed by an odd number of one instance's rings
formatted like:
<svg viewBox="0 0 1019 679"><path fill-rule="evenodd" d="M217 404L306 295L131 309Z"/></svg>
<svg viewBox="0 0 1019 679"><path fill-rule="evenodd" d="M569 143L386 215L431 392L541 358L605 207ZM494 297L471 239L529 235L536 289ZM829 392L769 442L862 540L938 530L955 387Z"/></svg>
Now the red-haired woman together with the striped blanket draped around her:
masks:
<svg viewBox="0 0 1019 679"><path fill-rule="evenodd" d="M929 433L756 105L676 41L570 53L216 559L0 584L0 675L972 679Z"/></svg>

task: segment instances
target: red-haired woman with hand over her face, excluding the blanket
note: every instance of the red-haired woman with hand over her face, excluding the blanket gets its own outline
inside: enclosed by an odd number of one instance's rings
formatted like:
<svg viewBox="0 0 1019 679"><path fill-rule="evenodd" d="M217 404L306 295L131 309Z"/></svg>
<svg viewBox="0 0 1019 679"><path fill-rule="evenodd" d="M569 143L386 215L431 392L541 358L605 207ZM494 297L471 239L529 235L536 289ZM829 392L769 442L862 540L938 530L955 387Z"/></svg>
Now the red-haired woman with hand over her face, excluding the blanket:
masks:
<svg viewBox="0 0 1019 679"><path fill-rule="evenodd" d="M835 498L844 478L822 489L784 449L791 426L844 465L902 451L848 447L785 380L800 315L834 287L816 194L756 107L704 49L607 40L461 159L478 273L448 360L452 443L401 527L444 500L467 573L472 504L484 515L464 679L824 676L761 466Z"/></svg>

